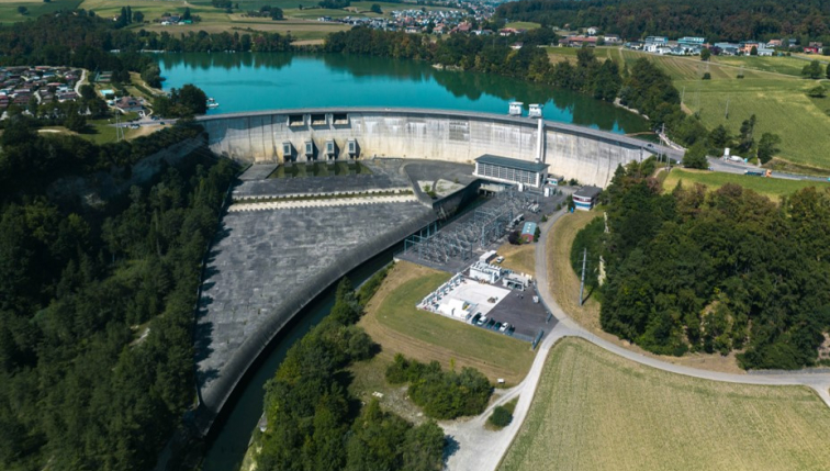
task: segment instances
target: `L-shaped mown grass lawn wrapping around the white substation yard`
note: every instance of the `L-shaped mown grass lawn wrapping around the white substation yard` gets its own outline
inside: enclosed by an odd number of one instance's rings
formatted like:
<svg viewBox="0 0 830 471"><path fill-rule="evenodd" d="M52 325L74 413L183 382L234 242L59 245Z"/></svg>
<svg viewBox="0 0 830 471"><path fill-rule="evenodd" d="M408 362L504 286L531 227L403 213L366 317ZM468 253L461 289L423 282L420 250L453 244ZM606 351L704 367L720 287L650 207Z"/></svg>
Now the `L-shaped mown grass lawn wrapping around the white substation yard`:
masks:
<svg viewBox="0 0 830 471"><path fill-rule="evenodd" d="M518 383L534 359L530 344L415 309L417 302L450 278L449 273L400 261L367 306L360 326L381 345L372 362L389 362L400 352L444 368L473 367L491 381Z"/></svg>

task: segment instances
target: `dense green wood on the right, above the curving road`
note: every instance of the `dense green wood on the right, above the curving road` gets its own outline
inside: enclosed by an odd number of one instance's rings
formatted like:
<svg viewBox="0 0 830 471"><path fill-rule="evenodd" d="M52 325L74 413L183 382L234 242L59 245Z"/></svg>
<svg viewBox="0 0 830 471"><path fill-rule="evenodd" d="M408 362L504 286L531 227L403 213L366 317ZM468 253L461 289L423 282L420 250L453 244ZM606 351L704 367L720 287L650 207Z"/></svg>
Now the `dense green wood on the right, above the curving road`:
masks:
<svg viewBox="0 0 830 471"><path fill-rule="evenodd" d="M603 329L661 355L738 352L744 369L815 366L830 328L830 191L781 203L736 184L663 193L636 162L603 195ZM823 360L827 362L827 360Z"/></svg>

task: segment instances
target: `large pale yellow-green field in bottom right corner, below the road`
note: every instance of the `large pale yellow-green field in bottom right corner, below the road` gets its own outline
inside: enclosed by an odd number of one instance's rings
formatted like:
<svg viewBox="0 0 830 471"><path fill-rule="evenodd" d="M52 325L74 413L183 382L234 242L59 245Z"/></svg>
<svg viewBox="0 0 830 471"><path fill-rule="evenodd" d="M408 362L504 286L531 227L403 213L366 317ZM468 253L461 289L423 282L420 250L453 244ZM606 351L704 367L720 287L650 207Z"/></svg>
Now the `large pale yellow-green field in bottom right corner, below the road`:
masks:
<svg viewBox="0 0 830 471"><path fill-rule="evenodd" d="M500 470L825 470L829 435L830 408L807 388L684 377L570 338Z"/></svg>

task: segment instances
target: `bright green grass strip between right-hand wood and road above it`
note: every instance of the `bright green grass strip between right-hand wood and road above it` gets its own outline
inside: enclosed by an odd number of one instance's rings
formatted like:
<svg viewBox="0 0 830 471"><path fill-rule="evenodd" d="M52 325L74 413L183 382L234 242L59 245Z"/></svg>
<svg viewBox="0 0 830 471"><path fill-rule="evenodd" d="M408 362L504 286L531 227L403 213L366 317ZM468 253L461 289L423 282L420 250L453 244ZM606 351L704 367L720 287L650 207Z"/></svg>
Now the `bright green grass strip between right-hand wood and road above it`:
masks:
<svg viewBox="0 0 830 471"><path fill-rule="evenodd" d="M675 168L663 181L663 189L672 191L678 181L682 181L686 187L694 183L703 183L708 187L709 191L717 190L726 183L736 183L748 190L765 194L773 200L779 200L785 194L794 193L807 187L830 188L829 183L820 181L782 180L779 178L749 177L745 175Z"/></svg>

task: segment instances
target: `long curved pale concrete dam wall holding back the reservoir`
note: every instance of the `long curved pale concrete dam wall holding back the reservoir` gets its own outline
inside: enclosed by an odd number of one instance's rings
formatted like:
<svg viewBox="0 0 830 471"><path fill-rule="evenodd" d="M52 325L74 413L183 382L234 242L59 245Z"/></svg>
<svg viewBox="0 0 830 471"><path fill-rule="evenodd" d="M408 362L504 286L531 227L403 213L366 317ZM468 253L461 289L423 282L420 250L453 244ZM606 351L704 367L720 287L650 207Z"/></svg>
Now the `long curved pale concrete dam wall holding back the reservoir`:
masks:
<svg viewBox="0 0 830 471"><path fill-rule="evenodd" d="M202 116L213 152L246 162L403 157L472 162L484 154L532 161L537 120L489 113L330 108ZM545 122L543 161L553 175L605 187L617 165L682 153L604 131ZM348 143L356 143L356 155ZM306 155L306 143L313 143ZM333 142L334 148L327 144ZM284 152L290 143L290 154ZM329 154L332 152L332 154Z"/></svg>

